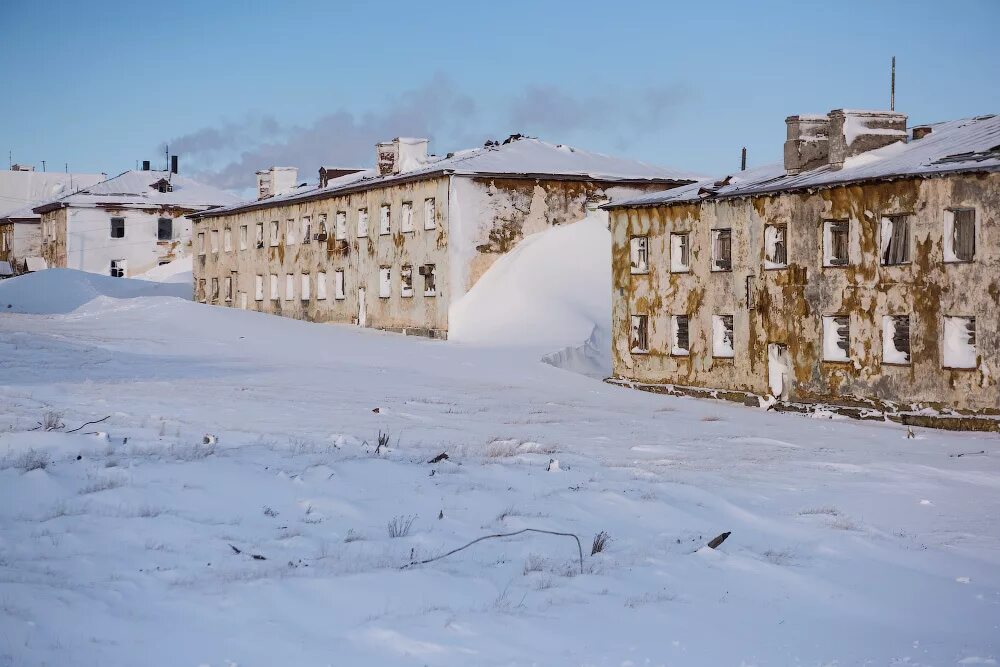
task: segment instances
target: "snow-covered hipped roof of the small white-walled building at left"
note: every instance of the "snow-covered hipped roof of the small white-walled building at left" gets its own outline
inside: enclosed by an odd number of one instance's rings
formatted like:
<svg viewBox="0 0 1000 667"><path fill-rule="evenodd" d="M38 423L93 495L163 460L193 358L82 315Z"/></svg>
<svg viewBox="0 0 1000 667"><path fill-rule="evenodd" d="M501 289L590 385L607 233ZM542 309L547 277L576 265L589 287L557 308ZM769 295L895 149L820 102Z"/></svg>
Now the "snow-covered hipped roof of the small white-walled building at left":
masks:
<svg viewBox="0 0 1000 667"><path fill-rule="evenodd" d="M170 192L160 192L160 181L170 182ZM59 199L36 206L35 213L45 213L67 206L106 206L147 208L176 206L201 210L211 206L226 206L239 201L239 197L211 185L199 183L186 176L169 171L126 171L114 178L77 190Z"/></svg>

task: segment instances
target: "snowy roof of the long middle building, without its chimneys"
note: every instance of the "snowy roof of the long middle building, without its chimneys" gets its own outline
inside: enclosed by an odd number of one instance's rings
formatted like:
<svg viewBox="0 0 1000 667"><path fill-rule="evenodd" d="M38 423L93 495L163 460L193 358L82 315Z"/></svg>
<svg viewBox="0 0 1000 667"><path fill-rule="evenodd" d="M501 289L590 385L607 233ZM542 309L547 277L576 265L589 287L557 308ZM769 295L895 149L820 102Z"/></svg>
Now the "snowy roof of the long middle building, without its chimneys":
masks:
<svg viewBox="0 0 1000 667"><path fill-rule="evenodd" d="M670 184L689 183L700 178L697 174L514 135L503 143L489 142L482 148L449 153L444 157L428 156L423 166L399 174L379 176L374 169L365 169L331 179L326 187L300 186L283 195L204 211L196 217L214 217L279 204L325 199L336 194L442 175Z"/></svg>

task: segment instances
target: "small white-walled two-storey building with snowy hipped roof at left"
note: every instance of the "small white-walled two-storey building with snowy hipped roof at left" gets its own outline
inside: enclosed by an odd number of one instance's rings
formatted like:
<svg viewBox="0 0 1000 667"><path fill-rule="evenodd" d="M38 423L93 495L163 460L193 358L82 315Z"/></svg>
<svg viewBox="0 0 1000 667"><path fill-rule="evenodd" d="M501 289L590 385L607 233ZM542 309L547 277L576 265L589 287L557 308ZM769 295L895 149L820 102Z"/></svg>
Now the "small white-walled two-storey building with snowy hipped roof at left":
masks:
<svg viewBox="0 0 1000 667"><path fill-rule="evenodd" d="M50 268L115 277L144 273L190 252L192 213L239 201L170 171L126 171L34 207Z"/></svg>

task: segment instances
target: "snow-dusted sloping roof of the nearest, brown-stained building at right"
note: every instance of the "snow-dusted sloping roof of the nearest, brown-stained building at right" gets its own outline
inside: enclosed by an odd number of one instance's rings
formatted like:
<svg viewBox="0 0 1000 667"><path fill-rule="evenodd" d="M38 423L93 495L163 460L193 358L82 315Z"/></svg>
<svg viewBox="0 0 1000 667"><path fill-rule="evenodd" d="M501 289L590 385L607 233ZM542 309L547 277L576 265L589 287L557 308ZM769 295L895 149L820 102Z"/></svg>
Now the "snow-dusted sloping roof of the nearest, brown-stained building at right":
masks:
<svg viewBox="0 0 1000 667"><path fill-rule="evenodd" d="M636 208L749 195L829 188L864 181L931 177L956 172L1000 170L1000 116L976 116L919 125L931 133L855 155L842 169L830 165L787 175L783 164L740 171L718 180L701 181L608 204L605 208Z"/></svg>

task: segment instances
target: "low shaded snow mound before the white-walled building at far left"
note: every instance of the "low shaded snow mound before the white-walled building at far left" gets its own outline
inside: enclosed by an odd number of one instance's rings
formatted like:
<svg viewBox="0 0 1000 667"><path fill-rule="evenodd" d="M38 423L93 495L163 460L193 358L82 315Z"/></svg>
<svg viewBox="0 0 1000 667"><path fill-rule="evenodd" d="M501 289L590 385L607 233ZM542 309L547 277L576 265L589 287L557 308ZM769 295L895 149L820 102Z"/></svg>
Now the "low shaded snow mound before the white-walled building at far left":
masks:
<svg viewBox="0 0 1000 667"><path fill-rule="evenodd" d="M0 282L0 312L55 315L70 313L99 297L191 298L190 285L112 278L74 269L47 269Z"/></svg>

